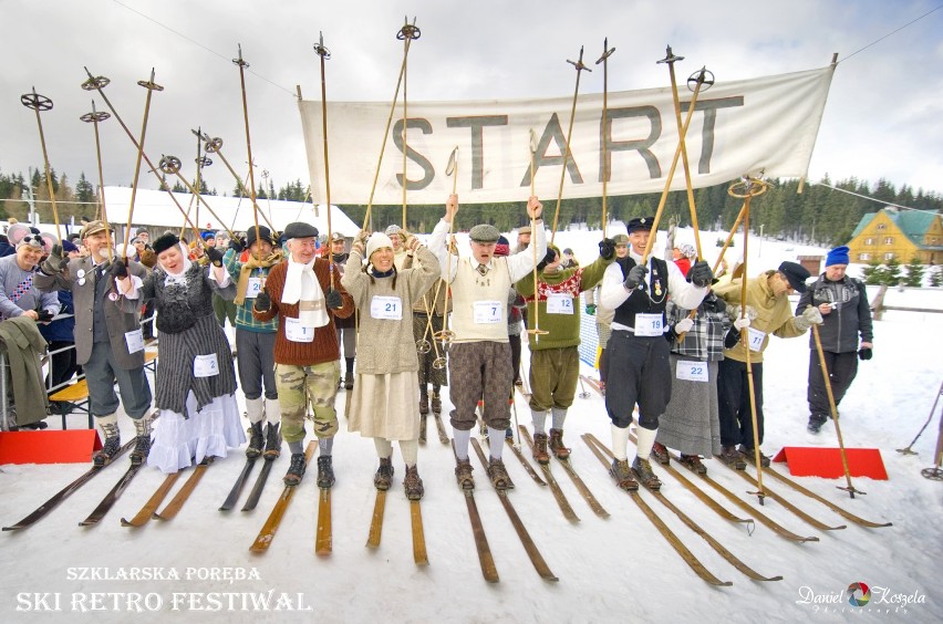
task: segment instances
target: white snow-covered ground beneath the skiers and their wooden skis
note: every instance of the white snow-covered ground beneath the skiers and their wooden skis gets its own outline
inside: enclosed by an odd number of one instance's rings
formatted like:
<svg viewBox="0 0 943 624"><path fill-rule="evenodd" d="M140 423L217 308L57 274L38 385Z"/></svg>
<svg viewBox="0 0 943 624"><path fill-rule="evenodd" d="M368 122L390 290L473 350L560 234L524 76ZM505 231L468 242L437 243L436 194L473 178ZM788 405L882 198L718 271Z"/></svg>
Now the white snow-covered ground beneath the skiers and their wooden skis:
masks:
<svg viewBox="0 0 943 624"><path fill-rule="evenodd" d="M717 236L705 232L702 238L713 245ZM557 237L558 245L572 247L583 262L595 258L598 240L599 232L560 232ZM677 240L684 240L682 232ZM784 259L795 260L798 253L825 254L821 249L774 241L764 241L761 249L752 241L750 251L750 274L775 268ZM943 291L924 291L920 297L933 299L934 306L941 308ZM900 298L895 304L906 305ZM868 493L853 500L836 489L843 479L798 479L844 509L869 520L891 521L893 527L864 529L848 523L843 530L820 531L767 499L764 513L820 541L792 543L759 523L748 534L742 524L723 520L661 472L662 491L672 502L748 565L767 576L781 574L783 581L750 581L649 492L642 492L642 499L695 557L733 585L712 587L698 579L630 498L612 485L580 440L589 431L609 444L603 401L593 393L576 399L567 441L573 449L576 469L610 518L594 516L561 467L551 465L580 517L578 523L570 523L547 488L531 481L511 454L506 454L517 483L510 499L559 576L558 583L537 575L473 459L478 479L475 499L500 574L498 584L483 580L464 497L453 477L452 450L439 444L431 419L429 441L419 453L426 488L422 507L427 568L413 563L398 451L381 547L375 551L364 548L376 460L372 441L356 435L342 433L334 446L338 483L333 489L333 553L328 558L314 554L318 505L313 474L302 481L269 552L253 555L248 551L281 493L287 454L276 464L252 512L239 511L247 492L236 510L217 510L243 465L241 450L234 450L210 466L172 521L153 520L141 529L121 527L118 519L136 513L162 481L156 471L144 470L100 526L77 527L123 472L126 460L122 459L34 527L0 535L0 620L157 622L170 615L188 622L842 622L860 616L862 621L940 622L943 591L936 583L943 555L943 483L920 475L932 464L940 407L913 446L919 456L894 449L908 446L930 414L941 383L941 332L943 314L887 313L875 323L874 357L861 364L841 405L846 445L879 448L890 479L856 479L856 487ZM774 339L767 351L767 454L786 445L836 445L831 428L818 436L806 431L808 356L807 336ZM594 374L589 367L584 373ZM342 391L340 414L344 398ZM445 403L447 410L447 397ZM529 425L529 410L519 397L516 413L521 424ZM83 419L72 416L70 426L81 427ZM50 419L52 426L56 420ZM122 427L129 439L133 428L126 418L122 418ZM450 431L447 422L446 427ZM717 461L706 464L711 477L756 505L756 498L746 495L752 488L744 480ZM0 523L20 520L85 469L84 465L3 466ZM775 480L767 479L765 485L828 524L846 523L825 506ZM734 513L744 514L713 490L711 496ZM152 578L118 578L135 573ZM871 589L867 604L849 603L847 590L852 583ZM271 600L268 610L258 602L260 596ZM277 605L281 610L276 611Z"/></svg>

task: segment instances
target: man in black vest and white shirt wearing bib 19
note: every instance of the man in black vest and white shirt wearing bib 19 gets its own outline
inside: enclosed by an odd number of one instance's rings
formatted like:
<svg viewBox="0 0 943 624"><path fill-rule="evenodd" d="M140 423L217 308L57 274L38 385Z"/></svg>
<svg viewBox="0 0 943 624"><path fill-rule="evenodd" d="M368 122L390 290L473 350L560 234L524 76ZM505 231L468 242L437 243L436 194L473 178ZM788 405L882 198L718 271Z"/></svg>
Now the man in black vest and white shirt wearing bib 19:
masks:
<svg viewBox="0 0 943 624"><path fill-rule="evenodd" d="M605 409L612 420L612 474L619 487L633 490L639 482L661 487L649 457L659 430L659 417L671 398L670 345L665 308L669 295L676 305L694 310L707 294L713 274L703 260L691 267L687 278L674 262L645 254L654 236L654 218L632 219L626 225L629 254L609 266L602 278L600 305L614 310L609 339ZM654 247L654 246L652 246ZM618 382L616 382L618 379ZM629 425L639 406L638 453L629 467ZM633 477L634 474L634 477ZM638 478L638 481L635 480Z"/></svg>

